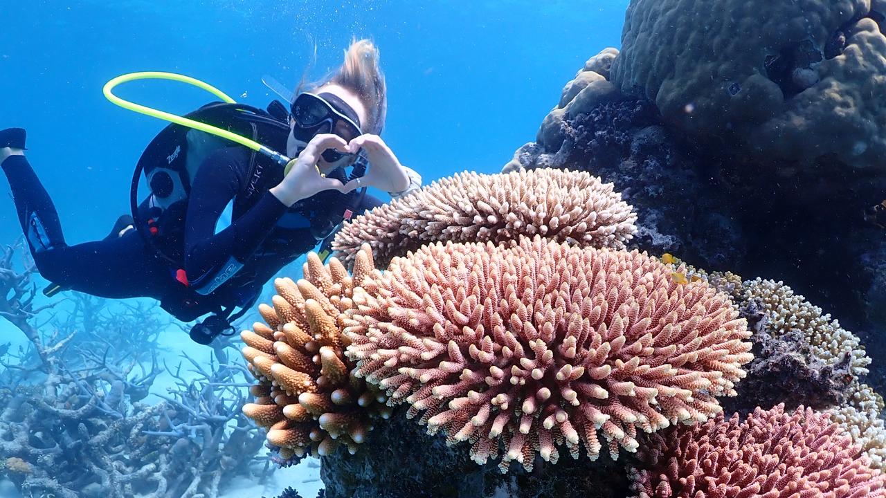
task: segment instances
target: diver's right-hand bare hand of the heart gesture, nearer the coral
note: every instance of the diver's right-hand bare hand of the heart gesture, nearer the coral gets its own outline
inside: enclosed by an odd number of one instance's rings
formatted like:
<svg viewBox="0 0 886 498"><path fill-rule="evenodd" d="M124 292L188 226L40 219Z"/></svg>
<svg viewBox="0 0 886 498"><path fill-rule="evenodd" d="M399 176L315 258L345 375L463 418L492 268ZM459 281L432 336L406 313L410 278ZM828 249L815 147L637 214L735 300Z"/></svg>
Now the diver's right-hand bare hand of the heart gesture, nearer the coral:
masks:
<svg viewBox="0 0 886 498"><path fill-rule="evenodd" d="M363 149L369 160L369 171L360 178L345 183L344 192L360 187L376 187L387 192L405 191L409 186L409 175L400 165L381 136L365 134L354 138L347 144L347 152L355 154Z"/></svg>

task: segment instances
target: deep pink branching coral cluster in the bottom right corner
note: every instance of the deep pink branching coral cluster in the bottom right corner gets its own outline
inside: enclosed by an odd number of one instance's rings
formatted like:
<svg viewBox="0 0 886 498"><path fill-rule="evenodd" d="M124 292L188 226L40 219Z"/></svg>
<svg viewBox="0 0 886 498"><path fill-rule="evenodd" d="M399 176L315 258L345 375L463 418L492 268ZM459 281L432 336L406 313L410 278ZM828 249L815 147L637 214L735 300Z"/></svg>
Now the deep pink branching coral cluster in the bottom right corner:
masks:
<svg viewBox="0 0 886 498"><path fill-rule="evenodd" d="M780 405L652 434L635 498L879 498L886 479L827 414Z"/></svg>

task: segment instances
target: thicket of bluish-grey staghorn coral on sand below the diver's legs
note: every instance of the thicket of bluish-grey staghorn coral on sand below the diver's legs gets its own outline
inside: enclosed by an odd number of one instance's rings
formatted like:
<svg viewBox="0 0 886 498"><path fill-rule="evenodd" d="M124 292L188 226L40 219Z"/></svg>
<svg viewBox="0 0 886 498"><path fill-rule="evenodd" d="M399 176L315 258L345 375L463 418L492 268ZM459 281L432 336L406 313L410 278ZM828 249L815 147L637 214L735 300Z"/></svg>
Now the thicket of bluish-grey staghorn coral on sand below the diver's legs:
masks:
<svg viewBox="0 0 886 498"><path fill-rule="evenodd" d="M189 358L187 379L167 369L175 387L158 393L166 323L157 309L78 295L73 307L36 307L33 262L12 264L19 251L27 245L0 249L0 316L28 339L27 348L0 345L0 467L16 488L0 494L189 498L267 478L273 469L256 458L263 434L238 415L247 372L220 365L223 345L209 365ZM164 401L147 404L148 393Z"/></svg>

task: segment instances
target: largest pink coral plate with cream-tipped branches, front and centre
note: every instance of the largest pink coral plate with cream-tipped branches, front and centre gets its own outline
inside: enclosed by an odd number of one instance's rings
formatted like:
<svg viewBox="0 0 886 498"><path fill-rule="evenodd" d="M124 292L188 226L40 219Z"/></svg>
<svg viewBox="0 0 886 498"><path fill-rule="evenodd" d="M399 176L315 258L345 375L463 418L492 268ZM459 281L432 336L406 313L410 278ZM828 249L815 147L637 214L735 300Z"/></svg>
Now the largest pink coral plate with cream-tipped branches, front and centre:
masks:
<svg viewBox="0 0 886 498"><path fill-rule="evenodd" d="M478 463L531 469L563 445L618 457L638 431L719 413L715 396L733 395L751 360L727 296L674 273L538 236L426 245L355 290L346 354Z"/></svg>

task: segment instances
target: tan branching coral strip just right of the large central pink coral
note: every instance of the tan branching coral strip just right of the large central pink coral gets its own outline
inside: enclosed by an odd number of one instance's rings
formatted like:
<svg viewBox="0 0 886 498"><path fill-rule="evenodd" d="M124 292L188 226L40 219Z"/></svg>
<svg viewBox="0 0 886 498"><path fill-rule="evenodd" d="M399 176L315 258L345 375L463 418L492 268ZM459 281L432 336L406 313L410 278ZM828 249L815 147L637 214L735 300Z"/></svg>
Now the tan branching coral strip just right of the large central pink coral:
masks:
<svg viewBox="0 0 886 498"><path fill-rule="evenodd" d="M846 331L821 308L812 305L803 296L795 294L787 285L773 280L749 280L743 284L742 301L759 300L766 314L766 328L776 336L791 330L802 331L812 346L812 357L835 365L850 355L854 375L866 375L871 359L865 353L860 339Z"/></svg>

